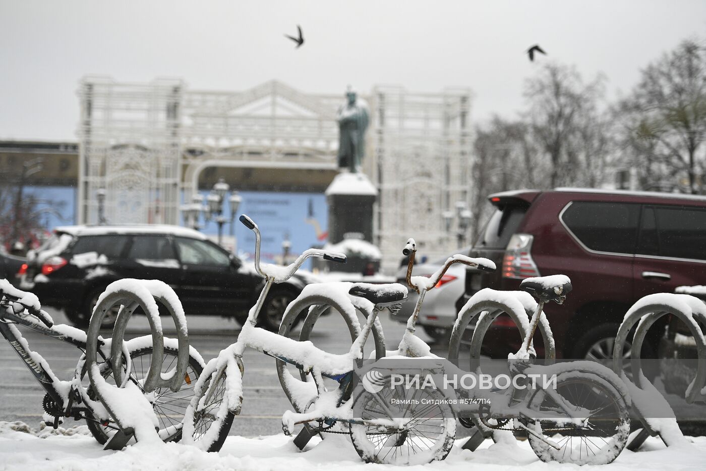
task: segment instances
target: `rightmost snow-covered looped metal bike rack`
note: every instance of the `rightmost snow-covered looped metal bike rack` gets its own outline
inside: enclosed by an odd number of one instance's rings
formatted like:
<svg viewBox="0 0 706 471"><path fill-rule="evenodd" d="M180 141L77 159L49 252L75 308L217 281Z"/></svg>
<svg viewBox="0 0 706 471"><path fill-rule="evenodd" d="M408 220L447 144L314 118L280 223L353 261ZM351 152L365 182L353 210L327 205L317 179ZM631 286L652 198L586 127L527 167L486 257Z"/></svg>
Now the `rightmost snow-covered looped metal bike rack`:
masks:
<svg viewBox="0 0 706 471"><path fill-rule="evenodd" d="M645 296L645 298L649 298L650 296L656 295L648 295ZM674 301L677 301L674 303L676 306L665 304L663 301L659 302L656 300L657 302L646 303L645 306L642 306L626 315L626 318L623 320L620 328L618 329L618 335L616 335L616 342L613 350L613 370L616 374L618 374L618 376L621 376L623 380L630 383L630 380L628 380L628 378L623 374L623 351L625 350L630 331L633 330L633 327L637 324L635 336L633 337L633 344L631 347L632 356L630 359L630 368L633 372L633 385L642 391L650 388L652 395L650 401L643 400L642 395L632 395L633 408L635 409L635 412L638 413L638 417L642 423L642 430L633 438L632 441L630 441L630 443L628 443L627 446L628 450L633 451L640 448L642 443L645 443L648 436L659 436L662 438L662 441L666 446L676 445L681 442L675 442L671 434L669 437L664 436L660 433L659 429L655 429L654 426L650 424L650 412L648 411L655 411L659 408L661 409L660 413L668 411L668 413L672 416L674 416L674 412L666 400L664 400L664 397L659 395L659 392L655 390L649 382L645 383L645 377L642 374L642 359L640 358L640 351L642 351L642 344L645 341L647 331L650 330L652 325L654 325L654 322L657 322L657 320L665 315L674 315L679 320L684 322L693 334L696 342L696 349L698 351L698 368L696 376L691 383L690 390L688 391L688 395L685 397L686 402L690 404L695 401L703 401L706 399L706 395L703 395L701 392L706 383L706 343L704 342L700 330L700 325L706 327L706 316L700 312L693 312L692 310L685 311L678 307L679 305L688 307L688 303L684 303L683 298L681 298L682 296L688 296L687 294L662 293L659 296L674 296ZM698 298L694 298L693 296L689 297L692 298L692 300L689 301L700 301ZM682 300L681 303L678 302L680 300ZM640 303L640 301L638 301L638 303ZM649 404L647 402L649 402ZM681 431L679 431L679 427L676 424L676 418L672 420L674 420L674 423L672 424L671 429L674 429L675 432L678 431L678 433L681 434Z"/></svg>

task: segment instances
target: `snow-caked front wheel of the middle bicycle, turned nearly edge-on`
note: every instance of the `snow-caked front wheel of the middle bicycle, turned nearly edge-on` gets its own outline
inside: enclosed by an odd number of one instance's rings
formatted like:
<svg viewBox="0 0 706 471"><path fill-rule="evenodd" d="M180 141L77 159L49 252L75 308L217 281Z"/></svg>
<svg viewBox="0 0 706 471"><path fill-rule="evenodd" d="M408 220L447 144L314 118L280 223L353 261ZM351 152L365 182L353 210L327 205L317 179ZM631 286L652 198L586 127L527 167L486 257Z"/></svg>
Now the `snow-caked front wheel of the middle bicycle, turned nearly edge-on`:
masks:
<svg viewBox="0 0 706 471"><path fill-rule="evenodd" d="M218 451L222 448L235 418L234 412L228 410L228 401L226 400L227 368L222 371L217 379L213 394L208 398L208 402L204 404L201 410L193 412L203 400L203 395L208 392L211 382L218 374L215 360L213 359L208 363L201 380L196 384L191 405L184 419L184 434L189 436L189 439L185 440L185 442L209 452ZM186 421L191 421L191 424L186 424Z"/></svg>

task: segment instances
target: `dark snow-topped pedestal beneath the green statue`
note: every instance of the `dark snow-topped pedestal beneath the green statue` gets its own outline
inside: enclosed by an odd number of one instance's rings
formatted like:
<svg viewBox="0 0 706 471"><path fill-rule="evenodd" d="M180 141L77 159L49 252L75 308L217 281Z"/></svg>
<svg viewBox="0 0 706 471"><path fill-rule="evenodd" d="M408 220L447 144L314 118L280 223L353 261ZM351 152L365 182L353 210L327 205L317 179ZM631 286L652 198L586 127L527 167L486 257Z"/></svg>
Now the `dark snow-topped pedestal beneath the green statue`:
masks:
<svg viewBox="0 0 706 471"><path fill-rule="evenodd" d="M360 233L373 242L373 204L378 190L362 173L339 173L325 192L328 203L328 243L336 244L346 233Z"/></svg>

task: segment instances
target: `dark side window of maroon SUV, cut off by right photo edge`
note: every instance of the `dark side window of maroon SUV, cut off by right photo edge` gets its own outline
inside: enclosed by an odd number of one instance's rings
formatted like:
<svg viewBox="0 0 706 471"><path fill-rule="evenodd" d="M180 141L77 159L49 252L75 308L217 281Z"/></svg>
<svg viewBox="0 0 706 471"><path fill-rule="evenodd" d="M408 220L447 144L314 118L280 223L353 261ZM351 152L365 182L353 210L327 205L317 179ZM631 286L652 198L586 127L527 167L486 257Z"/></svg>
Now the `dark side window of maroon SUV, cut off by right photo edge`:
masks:
<svg viewBox="0 0 706 471"><path fill-rule="evenodd" d="M652 206L642 212L642 255L706 260L706 209Z"/></svg>

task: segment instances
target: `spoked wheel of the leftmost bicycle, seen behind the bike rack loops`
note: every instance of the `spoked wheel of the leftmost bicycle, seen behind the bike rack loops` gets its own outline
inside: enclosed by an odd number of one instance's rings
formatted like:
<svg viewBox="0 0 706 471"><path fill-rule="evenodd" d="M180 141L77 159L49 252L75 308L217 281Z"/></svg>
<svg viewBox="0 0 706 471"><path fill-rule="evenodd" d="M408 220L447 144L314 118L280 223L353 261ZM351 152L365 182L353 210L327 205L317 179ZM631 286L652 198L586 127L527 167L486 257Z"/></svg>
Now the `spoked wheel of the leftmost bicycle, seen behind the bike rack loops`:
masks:
<svg viewBox="0 0 706 471"><path fill-rule="evenodd" d="M164 361L162 373L167 373L177 365L179 351L171 347L164 347ZM150 371L152 361L152 347L143 347L130 351L132 368L130 376L137 385L142 385L147 373ZM159 421L159 434L162 441L179 441L181 439L181 421L184 419L186 407L193 397L193 387L198 377L201 376L203 366L196 356L189 355L189 366L184 373L184 383L179 391L174 392L169 388L157 388L150 393L152 409ZM111 368L107 368L105 378L112 378ZM89 388L89 396L92 390ZM114 421L98 421L91 412L86 412L86 424L98 443L104 444L115 433L117 425Z"/></svg>

